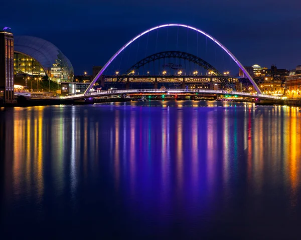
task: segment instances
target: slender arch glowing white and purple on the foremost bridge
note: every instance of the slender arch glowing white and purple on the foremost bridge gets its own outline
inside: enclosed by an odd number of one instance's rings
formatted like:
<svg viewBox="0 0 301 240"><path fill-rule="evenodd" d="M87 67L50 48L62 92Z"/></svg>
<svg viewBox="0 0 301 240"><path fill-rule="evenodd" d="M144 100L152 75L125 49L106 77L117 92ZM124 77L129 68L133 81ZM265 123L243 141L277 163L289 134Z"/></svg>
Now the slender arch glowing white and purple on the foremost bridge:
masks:
<svg viewBox="0 0 301 240"><path fill-rule="evenodd" d="M256 89L258 94L262 94L261 90L259 89L259 87L257 86L257 84L255 83L255 81L253 80L253 78L251 77L251 75L247 72L247 70L243 67L243 65L238 61L238 59L224 46L222 45L218 40L216 40L215 38L213 38L211 35L207 34L206 32L191 27L189 25L183 25L183 24L165 24L165 25L159 25L157 27L154 28L150 28L142 33L140 33L139 35L137 35L136 37L132 38L130 41L128 41L125 45L123 45L123 47L121 47L110 59L109 61L103 66L103 68L99 71L99 73L95 76L95 78L92 80L91 84L89 85L89 87L86 89L86 91L84 92L84 94L87 94L90 92L90 89L93 87L93 85L96 83L96 81L99 79L99 77L102 75L102 73L107 69L107 67L111 64L111 62L121 53L123 52L123 50L125 48L127 48L131 43L133 43L135 40L139 39L140 37L142 37L143 35L152 32L154 30L160 29L160 28L167 28L167 27L183 27L183 28L187 28L187 29L191 29L193 31L196 31L197 33L201 33L202 35L206 36L207 38L211 39L215 44L217 44L222 50L224 50L232 59L233 61L237 64L237 66L243 71L243 73L247 76L247 78L249 79L249 81L252 83L252 85L254 86L254 88Z"/></svg>

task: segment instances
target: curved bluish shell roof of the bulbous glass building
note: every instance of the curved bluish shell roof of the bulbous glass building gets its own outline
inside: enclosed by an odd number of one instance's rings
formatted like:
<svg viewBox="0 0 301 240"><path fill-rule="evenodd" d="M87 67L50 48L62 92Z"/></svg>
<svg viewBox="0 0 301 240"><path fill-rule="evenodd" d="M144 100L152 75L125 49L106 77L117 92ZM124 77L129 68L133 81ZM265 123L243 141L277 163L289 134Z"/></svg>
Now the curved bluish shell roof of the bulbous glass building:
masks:
<svg viewBox="0 0 301 240"><path fill-rule="evenodd" d="M72 81L74 70L69 59L52 43L31 36L15 36L15 51L36 59L52 79Z"/></svg>

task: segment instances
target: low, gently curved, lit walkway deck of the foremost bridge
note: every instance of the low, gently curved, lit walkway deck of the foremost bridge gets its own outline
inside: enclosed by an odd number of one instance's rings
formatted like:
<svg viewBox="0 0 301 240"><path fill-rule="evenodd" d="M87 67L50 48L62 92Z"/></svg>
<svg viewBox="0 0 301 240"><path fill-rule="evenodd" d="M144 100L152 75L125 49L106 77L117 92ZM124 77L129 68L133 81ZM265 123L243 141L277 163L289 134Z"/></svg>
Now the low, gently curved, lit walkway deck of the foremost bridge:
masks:
<svg viewBox="0 0 301 240"><path fill-rule="evenodd" d="M281 97L266 95L266 94L257 94L257 93L243 93L236 91L222 91L222 90L209 90L209 89L124 89L124 90L108 90L108 91L95 91L86 94L76 94L71 96L66 96L65 99L69 100L79 100L87 99L94 97L102 96L111 96L111 95L120 95L120 94L150 94L150 93L164 93L164 94L181 94L181 93L190 93L190 94L218 94L218 95L237 95L241 97L248 98L257 98L262 100L280 100ZM62 98L62 97L61 97Z"/></svg>

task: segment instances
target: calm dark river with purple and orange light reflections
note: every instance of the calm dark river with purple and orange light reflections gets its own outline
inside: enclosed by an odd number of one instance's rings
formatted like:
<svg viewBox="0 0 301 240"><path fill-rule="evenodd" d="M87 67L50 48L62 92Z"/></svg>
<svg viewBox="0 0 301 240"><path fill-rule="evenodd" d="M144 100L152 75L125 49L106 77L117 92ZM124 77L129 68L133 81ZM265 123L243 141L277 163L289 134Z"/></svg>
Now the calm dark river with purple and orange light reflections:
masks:
<svg viewBox="0 0 301 240"><path fill-rule="evenodd" d="M0 110L0 238L300 239L301 112L203 101Z"/></svg>

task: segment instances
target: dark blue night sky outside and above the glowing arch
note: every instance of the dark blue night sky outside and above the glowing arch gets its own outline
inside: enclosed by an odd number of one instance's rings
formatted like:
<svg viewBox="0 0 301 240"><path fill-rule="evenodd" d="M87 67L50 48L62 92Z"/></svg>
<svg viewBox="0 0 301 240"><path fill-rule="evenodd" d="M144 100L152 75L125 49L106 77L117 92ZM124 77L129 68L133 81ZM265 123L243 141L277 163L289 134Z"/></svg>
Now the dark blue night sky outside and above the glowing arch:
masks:
<svg viewBox="0 0 301 240"><path fill-rule="evenodd" d="M200 28L245 65L301 64L300 0L1 1L0 26L55 44L76 74L103 65L128 40L160 24Z"/></svg>

